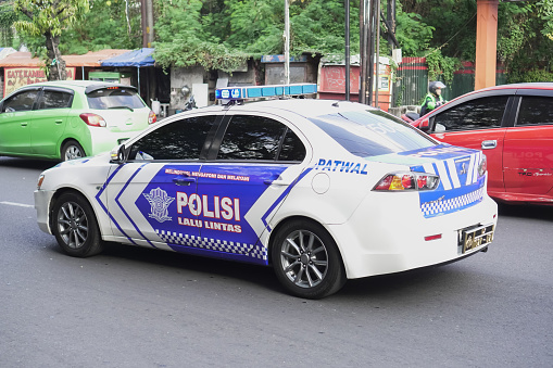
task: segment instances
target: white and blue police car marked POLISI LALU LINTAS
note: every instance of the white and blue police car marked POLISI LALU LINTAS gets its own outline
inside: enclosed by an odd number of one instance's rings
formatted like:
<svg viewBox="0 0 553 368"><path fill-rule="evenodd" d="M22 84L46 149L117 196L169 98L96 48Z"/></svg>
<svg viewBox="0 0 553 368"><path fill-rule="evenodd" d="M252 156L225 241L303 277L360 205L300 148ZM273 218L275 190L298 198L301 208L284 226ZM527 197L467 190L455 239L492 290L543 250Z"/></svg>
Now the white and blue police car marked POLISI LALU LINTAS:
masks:
<svg viewBox="0 0 553 368"><path fill-rule="evenodd" d="M70 255L116 241L272 265L290 293L317 299L347 279L487 250L497 204L486 188L480 151L363 104L288 99L171 116L111 155L46 170L35 203Z"/></svg>

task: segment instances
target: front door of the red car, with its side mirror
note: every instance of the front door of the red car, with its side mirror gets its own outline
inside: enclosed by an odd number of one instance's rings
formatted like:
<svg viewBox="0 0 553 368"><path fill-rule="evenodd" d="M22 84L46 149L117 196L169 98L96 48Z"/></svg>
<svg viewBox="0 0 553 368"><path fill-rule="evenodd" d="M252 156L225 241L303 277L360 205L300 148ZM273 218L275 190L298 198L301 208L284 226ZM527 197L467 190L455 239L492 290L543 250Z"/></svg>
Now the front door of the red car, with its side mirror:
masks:
<svg viewBox="0 0 553 368"><path fill-rule="evenodd" d="M508 96L482 97L445 109L433 117L431 136L460 147L482 150L488 158L488 191L502 193L505 107Z"/></svg>

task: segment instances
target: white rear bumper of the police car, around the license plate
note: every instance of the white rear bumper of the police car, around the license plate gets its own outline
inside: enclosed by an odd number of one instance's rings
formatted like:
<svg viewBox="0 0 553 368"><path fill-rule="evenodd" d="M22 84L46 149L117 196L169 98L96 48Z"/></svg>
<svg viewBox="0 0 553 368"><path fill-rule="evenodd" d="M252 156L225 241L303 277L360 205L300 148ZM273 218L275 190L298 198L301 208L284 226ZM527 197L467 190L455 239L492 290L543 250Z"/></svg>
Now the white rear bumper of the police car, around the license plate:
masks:
<svg viewBox="0 0 553 368"><path fill-rule="evenodd" d="M405 203L410 201L411 205ZM393 193L364 204L345 224L327 226L334 239L339 240L350 279L458 261L489 245L463 253L460 231L477 225L495 226L498 221L497 203L488 195L476 205L432 218L422 216L413 195ZM425 240L433 236L439 237Z"/></svg>

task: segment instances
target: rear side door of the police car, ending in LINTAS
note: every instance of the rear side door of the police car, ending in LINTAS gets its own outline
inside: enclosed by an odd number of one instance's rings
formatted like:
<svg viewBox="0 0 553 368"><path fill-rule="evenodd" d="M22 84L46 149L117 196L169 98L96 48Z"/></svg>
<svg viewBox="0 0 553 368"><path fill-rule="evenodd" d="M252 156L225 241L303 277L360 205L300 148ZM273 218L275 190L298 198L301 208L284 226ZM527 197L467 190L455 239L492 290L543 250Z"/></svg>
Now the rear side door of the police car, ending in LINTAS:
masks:
<svg viewBox="0 0 553 368"><path fill-rule="evenodd" d="M198 178L200 234L229 257L266 264L259 239L305 168L305 144L296 128L271 115L229 113L226 120Z"/></svg>

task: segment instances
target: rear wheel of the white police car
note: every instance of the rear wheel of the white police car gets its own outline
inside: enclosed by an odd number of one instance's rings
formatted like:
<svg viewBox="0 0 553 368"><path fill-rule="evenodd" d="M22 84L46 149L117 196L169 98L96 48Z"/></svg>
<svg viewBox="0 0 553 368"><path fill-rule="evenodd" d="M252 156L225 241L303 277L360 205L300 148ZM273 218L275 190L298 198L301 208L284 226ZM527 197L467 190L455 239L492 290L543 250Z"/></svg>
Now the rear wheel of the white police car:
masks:
<svg viewBox="0 0 553 368"><path fill-rule="evenodd" d="M316 223L302 219L285 224L271 252L278 280L296 296L321 299L334 294L345 283L338 246Z"/></svg>

